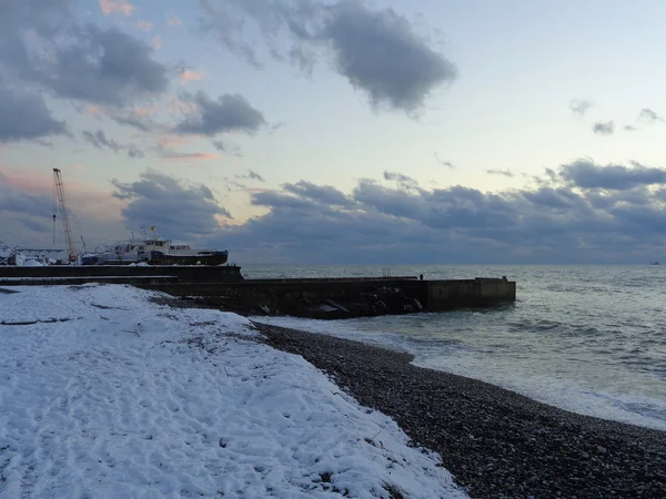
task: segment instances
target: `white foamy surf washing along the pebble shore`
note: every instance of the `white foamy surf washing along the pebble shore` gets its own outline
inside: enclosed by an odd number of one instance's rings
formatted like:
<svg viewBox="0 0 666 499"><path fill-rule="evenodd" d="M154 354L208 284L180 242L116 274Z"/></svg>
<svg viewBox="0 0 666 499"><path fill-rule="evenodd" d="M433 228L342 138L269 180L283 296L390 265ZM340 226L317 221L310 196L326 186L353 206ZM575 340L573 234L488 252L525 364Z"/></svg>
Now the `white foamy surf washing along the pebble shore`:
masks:
<svg viewBox="0 0 666 499"><path fill-rule="evenodd" d="M396 320L406 316L395 317ZM310 333L329 334L347 339L408 352L414 365L480 379L525 395L534 400L586 416L595 416L648 428L666 430L666 401L637 394L599 389L564 373L535 375L515 361L480 354L472 348L437 345L436 340L408 334L383 333L359 327L356 319L316 320L296 317L253 317L253 320ZM408 320L408 319L405 319ZM367 319L364 326L370 324ZM414 339L417 339L415 342Z"/></svg>

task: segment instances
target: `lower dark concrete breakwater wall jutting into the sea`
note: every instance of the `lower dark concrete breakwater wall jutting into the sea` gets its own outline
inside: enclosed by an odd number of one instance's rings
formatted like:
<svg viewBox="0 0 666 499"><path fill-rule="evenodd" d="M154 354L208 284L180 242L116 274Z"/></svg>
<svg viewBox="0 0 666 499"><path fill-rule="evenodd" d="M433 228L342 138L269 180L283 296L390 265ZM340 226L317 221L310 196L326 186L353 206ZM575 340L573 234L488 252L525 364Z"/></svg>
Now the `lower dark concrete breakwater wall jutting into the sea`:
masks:
<svg viewBox="0 0 666 499"><path fill-rule="evenodd" d="M516 299L516 283L503 278L244 279L195 285L144 283L139 286L241 313L313 318L444 312L495 306Z"/></svg>

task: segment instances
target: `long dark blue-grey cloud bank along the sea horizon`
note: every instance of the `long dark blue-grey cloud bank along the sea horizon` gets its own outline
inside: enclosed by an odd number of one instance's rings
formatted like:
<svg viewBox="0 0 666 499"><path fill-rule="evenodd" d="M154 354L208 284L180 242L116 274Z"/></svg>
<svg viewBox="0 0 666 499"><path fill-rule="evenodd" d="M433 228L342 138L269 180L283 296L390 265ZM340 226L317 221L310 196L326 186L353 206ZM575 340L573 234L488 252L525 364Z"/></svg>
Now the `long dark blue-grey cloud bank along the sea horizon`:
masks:
<svg viewBox="0 0 666 499"><path fill-rule="evenodd" d="M537 189L415 191L362 180L333 198L301 181L251 193L269 212L210 243L248 262L645 263L666 237L658 172L579 161ZM654 184L665 186L647 189Z"/></svg>

